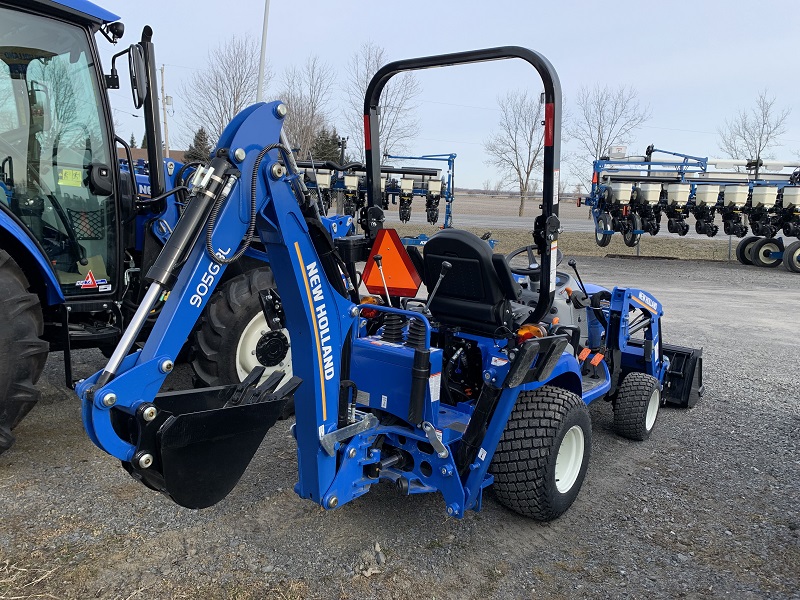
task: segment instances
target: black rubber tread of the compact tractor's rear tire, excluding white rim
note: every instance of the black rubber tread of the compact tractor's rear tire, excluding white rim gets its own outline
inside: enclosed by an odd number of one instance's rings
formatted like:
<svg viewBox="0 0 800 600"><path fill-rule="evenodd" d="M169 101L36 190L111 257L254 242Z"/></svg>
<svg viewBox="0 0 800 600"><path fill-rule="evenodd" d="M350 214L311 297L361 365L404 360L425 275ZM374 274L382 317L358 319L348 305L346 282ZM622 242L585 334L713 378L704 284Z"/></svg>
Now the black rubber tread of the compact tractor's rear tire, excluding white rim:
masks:
<svg viewBox="0 0 800 600"><path fill-rule="evenodd" d="M519 395L489 469L495 478L495 496L501 504L537 521L550 521L566 510L551 502L556 490L551 489L555 484L547 477L547 466L560 424L576 409L587 413L585 463L588 463L591 421L579 396L551 386ZM585 468L584 465L584 471ZM575 482L577 489L581 483Z"/></svg>

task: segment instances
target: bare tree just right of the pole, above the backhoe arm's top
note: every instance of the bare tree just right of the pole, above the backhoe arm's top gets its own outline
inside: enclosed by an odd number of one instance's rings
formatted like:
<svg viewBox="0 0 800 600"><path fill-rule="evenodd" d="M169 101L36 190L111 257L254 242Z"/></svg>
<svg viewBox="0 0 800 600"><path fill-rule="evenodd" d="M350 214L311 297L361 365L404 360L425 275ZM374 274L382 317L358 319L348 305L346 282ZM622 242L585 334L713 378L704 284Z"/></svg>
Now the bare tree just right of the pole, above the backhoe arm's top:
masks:
<svg viewBox="0 0 800 600"><path fill-rule="evenodd" d="M328 105L336 73L317 56L310 56L302 67L289 67L283 74L281 99L289 107L286 135L305 159L314 140L328 124Z"/></svg>

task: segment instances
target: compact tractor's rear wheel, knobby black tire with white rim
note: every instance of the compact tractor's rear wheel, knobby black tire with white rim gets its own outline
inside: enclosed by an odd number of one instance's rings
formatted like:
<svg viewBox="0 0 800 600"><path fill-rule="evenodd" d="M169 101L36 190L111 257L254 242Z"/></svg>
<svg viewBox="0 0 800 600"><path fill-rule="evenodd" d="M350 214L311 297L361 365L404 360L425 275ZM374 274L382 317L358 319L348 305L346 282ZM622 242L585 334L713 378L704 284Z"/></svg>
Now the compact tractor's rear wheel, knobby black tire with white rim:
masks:
<svg viewBox="0 0 800 600"><path fill-rule="evenodd" d="M561 516L578 497L591 447L579 396L551 386L522 392L490 466L497 500L537 521Z"/></svg>

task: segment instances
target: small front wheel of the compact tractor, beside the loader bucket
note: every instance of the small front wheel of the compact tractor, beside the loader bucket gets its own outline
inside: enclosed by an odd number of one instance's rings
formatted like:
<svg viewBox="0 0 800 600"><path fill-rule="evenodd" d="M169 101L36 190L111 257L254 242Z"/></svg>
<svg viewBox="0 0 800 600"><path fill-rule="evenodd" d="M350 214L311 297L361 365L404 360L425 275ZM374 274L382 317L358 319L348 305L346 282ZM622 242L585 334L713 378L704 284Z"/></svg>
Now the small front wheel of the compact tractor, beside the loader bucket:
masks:
<svg viewBox="0 0 800 600"><path fill-rule="evenodd" d="M628 373L614 400L614 430L629 440L646 440L653 432L660 407L658 379L638 371Z"/></svg>

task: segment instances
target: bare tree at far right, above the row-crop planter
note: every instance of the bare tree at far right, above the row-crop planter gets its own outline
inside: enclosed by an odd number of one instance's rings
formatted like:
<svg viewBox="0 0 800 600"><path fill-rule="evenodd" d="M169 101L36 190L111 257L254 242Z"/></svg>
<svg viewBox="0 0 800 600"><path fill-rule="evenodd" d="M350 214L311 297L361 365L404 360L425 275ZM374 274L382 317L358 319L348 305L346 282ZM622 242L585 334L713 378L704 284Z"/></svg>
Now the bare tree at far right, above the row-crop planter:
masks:
<svg viewBox="0 0 800 600"><path fill-rule="evenodd" d="M780 145L778 138L786 133L786 119L791 112L791 108L779 110L775 97L768 97L767 90L760 92L755 106L740 110L717 129L719 149L731 158L755 161L771 158L765 153Z"/></svg>

